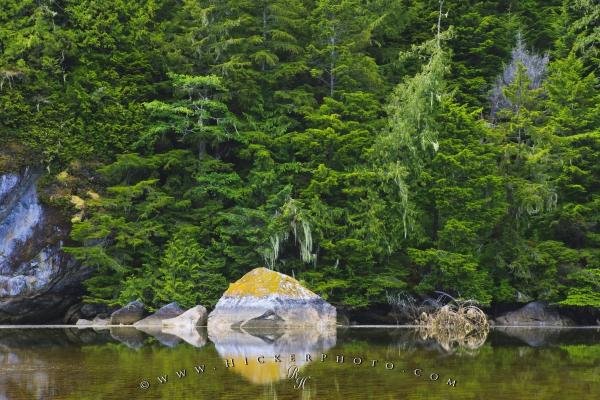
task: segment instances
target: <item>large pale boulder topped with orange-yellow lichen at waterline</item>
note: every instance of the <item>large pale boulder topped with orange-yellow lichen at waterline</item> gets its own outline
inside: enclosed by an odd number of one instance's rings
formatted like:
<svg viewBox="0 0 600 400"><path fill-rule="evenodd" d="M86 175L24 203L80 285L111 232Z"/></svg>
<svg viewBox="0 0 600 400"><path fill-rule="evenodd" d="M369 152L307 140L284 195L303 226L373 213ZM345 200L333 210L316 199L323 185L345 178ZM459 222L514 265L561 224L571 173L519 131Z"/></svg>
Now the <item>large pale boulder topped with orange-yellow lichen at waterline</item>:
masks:
<svg viewBox="0 0 600 400"><path fill-rule="evenodd" d="M335 324L335 307L294 278L266 268L253 269L230 284L208 316L209 334L215 335L231 327L328 330Z"/></svg>

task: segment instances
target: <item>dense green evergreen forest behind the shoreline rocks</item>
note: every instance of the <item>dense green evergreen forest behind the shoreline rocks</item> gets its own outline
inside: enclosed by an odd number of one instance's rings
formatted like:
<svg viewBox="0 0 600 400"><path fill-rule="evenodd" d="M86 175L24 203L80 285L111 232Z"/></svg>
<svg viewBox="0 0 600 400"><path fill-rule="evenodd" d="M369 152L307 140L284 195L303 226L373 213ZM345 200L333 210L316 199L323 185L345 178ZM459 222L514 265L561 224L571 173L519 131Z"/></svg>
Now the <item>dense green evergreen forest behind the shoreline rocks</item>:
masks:
<svg viewBox="0 0 600 400"><path fill-rule="evenodd" d="M2 0L0 171L89 302L600 307L597 0Z"/></svg>

